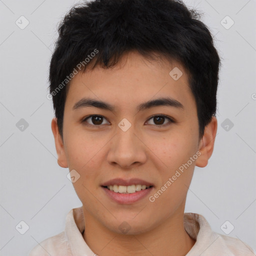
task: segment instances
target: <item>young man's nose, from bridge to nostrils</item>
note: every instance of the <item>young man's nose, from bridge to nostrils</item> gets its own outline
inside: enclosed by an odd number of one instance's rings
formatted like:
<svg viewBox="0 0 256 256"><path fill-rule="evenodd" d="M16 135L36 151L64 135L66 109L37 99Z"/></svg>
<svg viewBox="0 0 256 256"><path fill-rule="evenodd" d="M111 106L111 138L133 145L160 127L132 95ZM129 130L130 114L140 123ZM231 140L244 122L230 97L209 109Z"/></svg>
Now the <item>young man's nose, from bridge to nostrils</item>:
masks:
<svg viewBox="0 0 256 256"><path fill-rule="evenodd" d="M107 161L126 169L143 164L146 161L146 143L143 142L133 125L126 131L118 128L109 143Z"/></svg>

